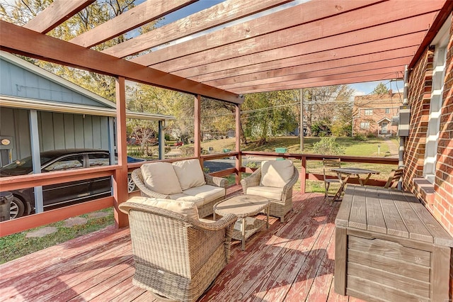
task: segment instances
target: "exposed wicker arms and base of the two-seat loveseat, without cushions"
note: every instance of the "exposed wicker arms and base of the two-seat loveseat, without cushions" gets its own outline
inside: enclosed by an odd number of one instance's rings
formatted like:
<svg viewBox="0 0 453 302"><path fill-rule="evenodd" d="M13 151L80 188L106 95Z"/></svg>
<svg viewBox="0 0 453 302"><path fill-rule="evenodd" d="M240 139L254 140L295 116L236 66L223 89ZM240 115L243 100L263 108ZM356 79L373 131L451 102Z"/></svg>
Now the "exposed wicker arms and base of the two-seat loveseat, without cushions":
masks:
<svg viewBox="0 0 453 302"><path fill-rule="evenodd" d="M205 176L205 181L206 184L209 184L210 186L218 186L221 188L226 189L226 179L222 177L212 177L211 175L203 173ZM144 179L142 175L141 169L134 169L134 171L131 174L132 180L134 181L135 185L137 188L140 190L140 193L144 197L154 197L154 198L166 198L170 199L171 197L168 195L160 194L155 191L151 191L150 189L147 188L144 184ZM205 203L202 206L198 207L198 216L200 217L206 217L212 215L214 213L213 207L214 204L216 204L219 201L222 201L225 196L222 196L221 198L214 199L213 201L210 201L209 203Z"/></svg>

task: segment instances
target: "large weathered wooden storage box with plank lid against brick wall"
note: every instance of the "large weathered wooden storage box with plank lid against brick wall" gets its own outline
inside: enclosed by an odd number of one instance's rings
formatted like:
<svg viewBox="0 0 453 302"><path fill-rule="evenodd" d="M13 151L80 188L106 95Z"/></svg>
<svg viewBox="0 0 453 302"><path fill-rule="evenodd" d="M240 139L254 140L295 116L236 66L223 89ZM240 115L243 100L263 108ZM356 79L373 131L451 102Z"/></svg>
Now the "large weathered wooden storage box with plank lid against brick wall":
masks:
<svg viewBox="0 0 453 302"><path fill-rule="evenodd" d="M453 237L413 194L348 185L335 224L336 293L448 301Z"/></svg>

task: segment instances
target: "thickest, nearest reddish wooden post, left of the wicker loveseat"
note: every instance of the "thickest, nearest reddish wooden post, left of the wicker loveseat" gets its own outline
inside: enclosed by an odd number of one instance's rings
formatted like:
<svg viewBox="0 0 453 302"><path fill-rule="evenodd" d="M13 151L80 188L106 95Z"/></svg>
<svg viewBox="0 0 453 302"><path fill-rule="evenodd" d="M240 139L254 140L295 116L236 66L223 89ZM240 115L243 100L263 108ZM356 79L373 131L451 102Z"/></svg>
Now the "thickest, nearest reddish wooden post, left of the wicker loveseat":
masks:
<svg viewBox="0 0 453 302"><path fill-rule="evenodd" d="M116 90L116 137L117 156L120 169L113 174L113 197L115 201L115 227L123 228L129 225L128 217L118 209L118 205L127 201L127 142L126 142L126 89L125 78L117 77L115 82Z"/></svg>

